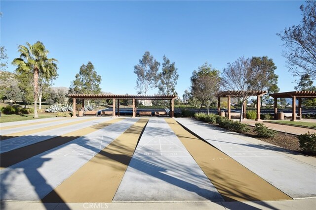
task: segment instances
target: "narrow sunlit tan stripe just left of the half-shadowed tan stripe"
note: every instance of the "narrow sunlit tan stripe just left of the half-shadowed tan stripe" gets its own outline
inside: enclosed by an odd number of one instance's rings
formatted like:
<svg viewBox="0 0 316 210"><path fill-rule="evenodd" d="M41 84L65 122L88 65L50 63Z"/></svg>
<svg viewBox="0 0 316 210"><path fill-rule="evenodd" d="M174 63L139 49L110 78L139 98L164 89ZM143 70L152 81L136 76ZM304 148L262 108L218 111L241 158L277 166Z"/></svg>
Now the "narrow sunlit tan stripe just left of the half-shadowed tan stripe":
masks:
<svg viewBox="0 0 316 210"><path fill-rule="evenodd" d="M82 122L87 122L87 121L91 121L91 120L95 120L95 119L96 118L88 118L88 119L85 119L85 120L79 120L79 121L75 121L75 122L68 122L68 123L52 125L52 126L43 127L43 128L37 128L37 129L33 129L33 130L28 130L28 131L21 131L21 132L17 132L17 133L10 133L10 134L7 134L7 135L3 135L0 138L1 138L1 141L3 141L3 140L7 140L7 139L18 137L18 136L26 136L26 135L30 135L30 134L33 134L33 133L38 133L38 132L51 130L51 129L55 129L55 128L60 128L60 127L66 127L68 125L75 125L75 124L79 124L79 123L82 123Z"/></svg>

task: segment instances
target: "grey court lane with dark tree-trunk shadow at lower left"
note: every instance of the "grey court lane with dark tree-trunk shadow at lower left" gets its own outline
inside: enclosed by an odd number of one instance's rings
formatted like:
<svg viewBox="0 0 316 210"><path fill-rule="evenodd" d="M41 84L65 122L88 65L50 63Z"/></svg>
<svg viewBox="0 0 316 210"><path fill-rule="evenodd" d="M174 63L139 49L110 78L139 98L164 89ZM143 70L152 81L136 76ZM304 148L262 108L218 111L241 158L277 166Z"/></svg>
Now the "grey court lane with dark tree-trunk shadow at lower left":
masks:
<svg viewBox="0 0 316 210"><path fill-rule="evenodd" d="M39 201L136 121L113 120L111 125L0 170L1 199Z"/></svg>

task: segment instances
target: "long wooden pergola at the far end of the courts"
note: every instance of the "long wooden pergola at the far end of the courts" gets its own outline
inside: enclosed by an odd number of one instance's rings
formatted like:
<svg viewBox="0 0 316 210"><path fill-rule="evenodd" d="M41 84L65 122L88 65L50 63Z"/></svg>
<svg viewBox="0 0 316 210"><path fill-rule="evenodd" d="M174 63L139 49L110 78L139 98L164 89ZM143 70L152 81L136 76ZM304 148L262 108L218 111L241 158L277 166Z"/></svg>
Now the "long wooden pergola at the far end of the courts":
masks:
<svg viewBox="0 0 316 210"><path fill-rule="evenodd" d="M131 99L133 101L133 117L136 116L136 103L137 100L170 100L170 117L174 117L174 99L176 95L115 95L115 94L70 94L69 97L73 98L73 117L76 117L76 99L82 100L82 107L84 107L85 99L112 99L113 100L113 117L116 116L115 100L118 100L118 116L119 116L119 100Z"/></svg>

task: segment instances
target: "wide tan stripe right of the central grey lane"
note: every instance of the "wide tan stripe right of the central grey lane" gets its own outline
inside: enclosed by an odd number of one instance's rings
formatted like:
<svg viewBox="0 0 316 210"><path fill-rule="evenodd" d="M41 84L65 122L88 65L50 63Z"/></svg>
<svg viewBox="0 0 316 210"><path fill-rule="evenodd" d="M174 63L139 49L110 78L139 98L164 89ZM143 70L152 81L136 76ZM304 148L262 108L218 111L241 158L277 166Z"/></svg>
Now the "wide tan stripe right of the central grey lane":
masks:
<svg viewBox="0 0 316 210"><path fill-rule="evenodd" d="M225 201L291 199L233 158L192 135L176 120L166 121Z"/></svg>

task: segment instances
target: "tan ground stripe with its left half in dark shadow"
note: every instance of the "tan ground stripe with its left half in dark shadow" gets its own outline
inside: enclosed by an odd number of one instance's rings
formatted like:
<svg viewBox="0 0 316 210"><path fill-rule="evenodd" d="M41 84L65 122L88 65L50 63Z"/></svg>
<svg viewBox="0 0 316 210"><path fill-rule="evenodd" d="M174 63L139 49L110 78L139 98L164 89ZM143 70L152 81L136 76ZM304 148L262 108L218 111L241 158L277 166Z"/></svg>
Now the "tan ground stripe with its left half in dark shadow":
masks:
<svg viewBox="0 0 316 210"><path fill-rule="evenodd" d="M81 136L87 135L94 131L97 131L105 126L111 125L115 122L118 122L120 119L114 119L107 122L101 122L90 127L86 127L77 131L66 133L61 136L57 136L42 142L35 143L26 147L18 148L16 150L7 151L0 154L1 162L0 167L6 168L23 160L26 160L30 157L38 155L44 151L51 150L60 145L66 144L74 139L77 139Z"/></svg>

